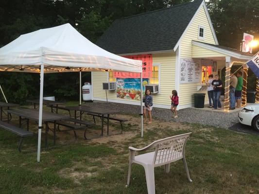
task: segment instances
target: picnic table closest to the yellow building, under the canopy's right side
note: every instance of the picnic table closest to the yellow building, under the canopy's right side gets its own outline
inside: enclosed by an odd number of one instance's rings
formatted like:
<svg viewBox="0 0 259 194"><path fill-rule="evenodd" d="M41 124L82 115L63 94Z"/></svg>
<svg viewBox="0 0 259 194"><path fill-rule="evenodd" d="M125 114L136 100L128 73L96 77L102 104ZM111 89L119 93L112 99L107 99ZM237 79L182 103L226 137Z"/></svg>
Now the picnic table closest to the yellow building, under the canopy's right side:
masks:
<svg viewBox="0 0 259 194"><path fill-rule="evenodd" d="M102 119L102 136L104 135L104 115L107 118L107 135L109 135L109 116L110 114L120 113L119 111L104 109L104 108L97 108L97 107L87 107L87 106L66 106L69 111L75 112L75 119L76 112L80 112L80 120L82 120L82 115L84 113L96 114L99 115Z"/></svg>

